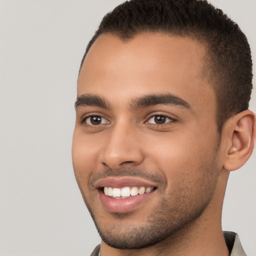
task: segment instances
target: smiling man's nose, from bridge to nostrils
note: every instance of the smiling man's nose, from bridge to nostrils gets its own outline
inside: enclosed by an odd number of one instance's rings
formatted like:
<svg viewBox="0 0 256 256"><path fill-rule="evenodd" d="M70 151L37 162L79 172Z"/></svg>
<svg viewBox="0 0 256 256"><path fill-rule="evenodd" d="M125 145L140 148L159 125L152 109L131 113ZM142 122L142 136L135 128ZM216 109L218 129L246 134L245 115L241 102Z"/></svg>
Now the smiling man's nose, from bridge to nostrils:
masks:
<svg viewBox="0 0 256 256"><path fill-rule="evenodd" d="M137 166L143 161L139 132L125 124L115 125L108 133L108 139L101 151L101 163L112 169L124 165Z"/></svg>

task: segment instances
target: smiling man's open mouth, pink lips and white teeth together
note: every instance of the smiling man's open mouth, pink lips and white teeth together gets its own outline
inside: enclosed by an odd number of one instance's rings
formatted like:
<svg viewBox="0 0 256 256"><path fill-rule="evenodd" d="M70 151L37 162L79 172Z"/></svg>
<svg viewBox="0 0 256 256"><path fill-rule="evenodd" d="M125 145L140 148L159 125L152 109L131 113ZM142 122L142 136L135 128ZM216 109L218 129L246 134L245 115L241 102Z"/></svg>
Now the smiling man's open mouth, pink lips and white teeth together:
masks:
<svg viewBox="0 0 256 256"><path fill-rule="evenodd" d="M111 177L97 182L99 199L110 212L130 212L146 203L157 189L145 180L129 177Z"/></svg>

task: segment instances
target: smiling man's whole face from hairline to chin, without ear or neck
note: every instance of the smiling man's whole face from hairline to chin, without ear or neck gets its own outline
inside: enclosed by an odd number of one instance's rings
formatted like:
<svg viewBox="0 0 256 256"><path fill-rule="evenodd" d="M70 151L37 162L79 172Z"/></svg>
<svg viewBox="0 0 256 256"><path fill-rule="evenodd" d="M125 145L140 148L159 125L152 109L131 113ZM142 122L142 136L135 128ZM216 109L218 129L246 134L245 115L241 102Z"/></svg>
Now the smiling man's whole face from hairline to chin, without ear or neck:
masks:
<svg viewBox="0 0 256 256"><path fill-rule="evenodd" d="M81 68L72 159L102 240L141 248L205 212L220 172L204 47L187 37L99 36ZM146 235L145 235L146 234Z"/></svg>

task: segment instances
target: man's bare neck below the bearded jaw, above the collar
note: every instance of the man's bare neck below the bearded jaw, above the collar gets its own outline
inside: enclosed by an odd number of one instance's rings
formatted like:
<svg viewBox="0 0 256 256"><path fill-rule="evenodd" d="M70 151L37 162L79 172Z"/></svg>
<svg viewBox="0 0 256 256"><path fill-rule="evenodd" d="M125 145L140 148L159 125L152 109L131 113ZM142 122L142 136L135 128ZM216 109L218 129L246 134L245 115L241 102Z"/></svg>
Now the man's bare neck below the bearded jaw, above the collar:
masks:
<svg viewBox="0 0 256 256"><path fill-rule="evenodd" d="M215 193L202 214L172 236L147 248L121 250L101 242L101 256L228 256L222 227L221 211L228 173L220 174Z"/></svg>

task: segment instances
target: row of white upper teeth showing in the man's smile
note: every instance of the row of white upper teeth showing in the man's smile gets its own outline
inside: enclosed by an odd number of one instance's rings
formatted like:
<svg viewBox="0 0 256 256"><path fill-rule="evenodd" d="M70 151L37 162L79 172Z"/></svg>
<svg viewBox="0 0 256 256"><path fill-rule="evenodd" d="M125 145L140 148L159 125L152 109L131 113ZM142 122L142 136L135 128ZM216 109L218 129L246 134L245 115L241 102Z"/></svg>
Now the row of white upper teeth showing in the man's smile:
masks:
<svg viewBox="0 0 256 256"><path fill-rule="evenodd" d="M148 193L151 190L153 190L153 187L136 187L133 186L131 188L129 188L128 186L122 187L122 188L117 188L117 187L107 187L104 186L104 194L108 195L108 196L112 196L114 198L127 198L129 196L134 196L137 194L144 194L144 193Z"/></svg>

